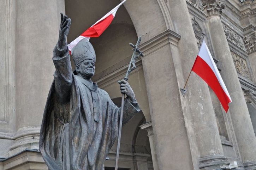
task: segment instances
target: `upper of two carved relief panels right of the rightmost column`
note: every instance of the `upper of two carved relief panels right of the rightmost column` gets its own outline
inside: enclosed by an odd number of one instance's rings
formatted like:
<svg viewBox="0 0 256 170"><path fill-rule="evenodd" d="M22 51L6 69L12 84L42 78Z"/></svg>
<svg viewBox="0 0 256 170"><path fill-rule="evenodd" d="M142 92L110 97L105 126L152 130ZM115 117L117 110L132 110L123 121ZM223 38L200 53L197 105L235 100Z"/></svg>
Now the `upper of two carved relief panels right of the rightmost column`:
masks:
<svg viewBox="0 0 256 170"><path fill-rule="evenodd" d="M228 28L226 25L223 25L223 29L226 35L226 38L230 40L232 43L236 44L238 47L245 50L244 43L242 41L242 37L240 37L237 33L235 33L233 30Z"/></svg>

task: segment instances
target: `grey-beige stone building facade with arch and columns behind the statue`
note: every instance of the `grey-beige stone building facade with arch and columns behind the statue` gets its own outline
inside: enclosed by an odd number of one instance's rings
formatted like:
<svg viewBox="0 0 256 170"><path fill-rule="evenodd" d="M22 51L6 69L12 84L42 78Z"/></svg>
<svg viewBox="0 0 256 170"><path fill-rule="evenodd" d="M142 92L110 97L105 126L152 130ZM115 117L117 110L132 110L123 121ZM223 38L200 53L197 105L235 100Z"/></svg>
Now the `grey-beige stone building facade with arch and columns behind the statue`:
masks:
<svg viewBox="0 0 256 170"><path fill-rule="evenodd" d="M0 0L0 170L44 170L38 151L44 105L53 80L52 51L60 12L71 42L119 0ZM94 81L120 105L117 81L142 36L129 82L141 113L123 127L120 170L216 170L236 161L256 169L256 1L127 0L113 23L90 41ZM192 73L203 39L232 98L225 113ZM116 145L105 162L113 170Z"/></svg>

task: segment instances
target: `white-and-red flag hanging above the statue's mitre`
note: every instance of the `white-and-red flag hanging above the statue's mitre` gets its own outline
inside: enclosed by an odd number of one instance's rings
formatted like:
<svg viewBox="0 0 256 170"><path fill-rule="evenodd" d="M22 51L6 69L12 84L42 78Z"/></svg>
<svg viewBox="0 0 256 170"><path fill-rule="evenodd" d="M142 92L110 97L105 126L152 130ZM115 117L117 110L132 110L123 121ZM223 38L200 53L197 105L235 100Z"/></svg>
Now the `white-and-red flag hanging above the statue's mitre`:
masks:
<svg viewBox="0 0 256 170"><path fill-rule="evenodd" d="M124 4L126 0L122 1L118 6L116 6L113 10L109 11L104 17L98 20L95 24L93 24L90 28L83 32L79 37L77 37L74 41L67 45L69 48L69 53L71 54L72 48L76 46L78 42L86 38L88 41L90 37L99 37L111 24L112 20L115 17L115 13L118 8Z"/></svg>

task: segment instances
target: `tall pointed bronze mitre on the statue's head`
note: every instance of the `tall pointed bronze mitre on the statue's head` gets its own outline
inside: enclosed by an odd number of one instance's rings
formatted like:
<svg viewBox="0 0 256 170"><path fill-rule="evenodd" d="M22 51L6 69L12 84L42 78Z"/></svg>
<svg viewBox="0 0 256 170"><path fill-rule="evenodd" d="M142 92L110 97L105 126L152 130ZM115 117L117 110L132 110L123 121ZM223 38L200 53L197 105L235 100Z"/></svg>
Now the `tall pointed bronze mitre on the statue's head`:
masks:
<svg viewBox="0 0 256 170"><path fill-rule="evenodd" d="M96 61L96 54L93 45L85 38L81 40L77 45L71 50L71 54L75 65L80 65L86 59Z"/></svg>

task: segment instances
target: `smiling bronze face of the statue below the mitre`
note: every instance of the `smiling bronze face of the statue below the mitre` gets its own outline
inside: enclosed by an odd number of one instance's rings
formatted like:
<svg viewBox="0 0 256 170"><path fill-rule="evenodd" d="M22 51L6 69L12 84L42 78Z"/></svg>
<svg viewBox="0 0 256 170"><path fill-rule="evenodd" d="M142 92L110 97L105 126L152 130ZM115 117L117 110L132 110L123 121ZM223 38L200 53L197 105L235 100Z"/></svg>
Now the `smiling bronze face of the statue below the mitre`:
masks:
<svg viewBox="0 0 256 170"><path fill-rule="evenodd" d="M76 66L76 71L80 73L83 78L93 77L95 72L94 61L90 59L84 60L79 66Z"/></svg>

